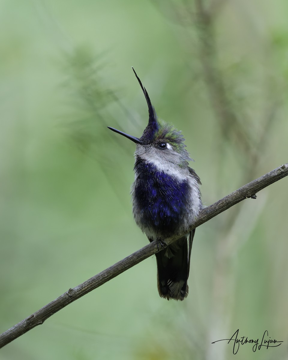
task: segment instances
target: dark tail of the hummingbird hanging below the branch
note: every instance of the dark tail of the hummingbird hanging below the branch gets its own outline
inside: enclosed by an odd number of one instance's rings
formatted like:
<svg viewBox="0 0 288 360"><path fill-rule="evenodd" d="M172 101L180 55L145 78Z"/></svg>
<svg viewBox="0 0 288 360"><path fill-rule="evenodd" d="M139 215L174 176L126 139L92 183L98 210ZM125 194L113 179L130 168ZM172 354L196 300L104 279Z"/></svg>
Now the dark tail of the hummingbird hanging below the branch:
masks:
<svg viewBox="0 0 288 360"><path fill-rule="evenodd" d="M156 253L159 295L167 300L184 300L188 296L191 247L195 229L166 249Z"/></svg>

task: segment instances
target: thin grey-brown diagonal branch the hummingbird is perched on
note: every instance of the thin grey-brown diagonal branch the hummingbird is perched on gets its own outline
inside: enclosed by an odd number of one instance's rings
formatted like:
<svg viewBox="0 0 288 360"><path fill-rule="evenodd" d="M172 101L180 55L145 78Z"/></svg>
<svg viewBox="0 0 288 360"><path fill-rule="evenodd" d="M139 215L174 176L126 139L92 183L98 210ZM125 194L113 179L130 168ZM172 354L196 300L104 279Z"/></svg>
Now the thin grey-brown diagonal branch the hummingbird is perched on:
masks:
<svg viewBox="0 0 288 360"><path fill-rule="evenodd" d="M196 228L199 225L202 225L204 222L212 219L212 217L215 217L216 215L229 209L231 206L246 198L256 198L255 194L258 191L275 183L275 181L278 181L287 175L288 163L281 165L268 174L265 174L258 179L251 181L251 183L242 186L242 188L235 190L233 193L225 196L223 199L201 210L197 221L195 221L193 227L190 230ZM175 239L172 238L168 239L166 241L166 245L168 246L174 240ZM50 316L63 309L63 307L69 305L71 302L98 288L107 281L115 278L117 275L120 275L127 269L130 269L130 267L138 264L140 261L145 260L158 251L159 250L156 242L152 242L144 246L142 249L127 256L125 259L108 267L108 269L103 270L101 273L93 276L89 280L86 280L84 283L76 286L73 289L70 288L57 299L51 301L49 304L45 305L28 318L22 320L20 323L14 325L11 329L1 334L0 348L23 335L27 331L31 330L35 326L43 324L46 319L50 318Z"/></svg>

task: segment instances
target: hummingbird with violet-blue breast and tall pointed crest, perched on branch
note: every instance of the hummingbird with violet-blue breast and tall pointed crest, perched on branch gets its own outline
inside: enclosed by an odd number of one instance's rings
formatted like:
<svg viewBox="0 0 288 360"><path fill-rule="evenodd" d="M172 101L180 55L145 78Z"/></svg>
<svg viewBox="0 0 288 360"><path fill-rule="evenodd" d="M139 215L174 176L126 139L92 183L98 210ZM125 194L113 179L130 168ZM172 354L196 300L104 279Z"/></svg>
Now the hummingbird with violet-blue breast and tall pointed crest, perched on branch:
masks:
<svg viewBox="0 0 288 360"><path fill-rule="evenodd" d="M157 117L147 90L133 71L148 105L148 125L140 138L108 128L136 143L131 191L136 224L157 245L179 236L156 253L157 287L162 298L184 300L195 234L195 229L189 229L202 209L201 181L188 166L194 160L185 149L181 131Z"/></svg>

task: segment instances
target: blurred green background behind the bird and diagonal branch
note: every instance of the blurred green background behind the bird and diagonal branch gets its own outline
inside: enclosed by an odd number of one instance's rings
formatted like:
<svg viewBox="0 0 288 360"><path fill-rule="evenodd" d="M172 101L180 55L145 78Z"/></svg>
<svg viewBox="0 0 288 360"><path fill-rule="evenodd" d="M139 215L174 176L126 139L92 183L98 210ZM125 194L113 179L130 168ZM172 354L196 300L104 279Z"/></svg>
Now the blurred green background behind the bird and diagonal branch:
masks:
<svg viewBox="0 0 288 360"><path fill-rule="evenodd" d="M288 3L0 1L0 332L148 243L130 186L147 105L183 131L209 205L288 161ZM284 341L288 179L196 231L189 296L141 262L0 351L0 359L231 359Z"/></svg>

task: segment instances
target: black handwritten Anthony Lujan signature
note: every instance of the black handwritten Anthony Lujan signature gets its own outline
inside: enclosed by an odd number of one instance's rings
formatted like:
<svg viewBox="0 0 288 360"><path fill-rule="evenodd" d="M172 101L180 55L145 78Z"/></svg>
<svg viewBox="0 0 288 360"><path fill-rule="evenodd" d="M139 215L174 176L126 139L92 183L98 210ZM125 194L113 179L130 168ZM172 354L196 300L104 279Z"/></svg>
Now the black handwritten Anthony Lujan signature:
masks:
<svg viewBox="0 0 288 360"><path fill-rule="evenodd" d="M271 339L271 337L269 337L269 335L268 335L267 330L264 331L261 343L259 343L259 338L255 339L255 340L248 339L248 337L245 337L245 336L238 338L238 333L239 333L239 329L235 331L235 333L231 336L230 339L217 340L217 341L212 342L212 344L215 344L218 341L227 341L227 340L228 340L228 344L230 343L230 341L234 342L233 354L237 354L240 345L254 344L252 347L252 350L253 350L253 352L255 352L257 349L260 350L262 346L264 346L266 348L277 347L277 346L281 345L281 343L283 342L283 341L277 341L275 339Z"/></svg>

